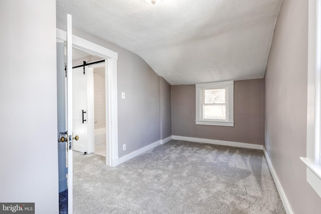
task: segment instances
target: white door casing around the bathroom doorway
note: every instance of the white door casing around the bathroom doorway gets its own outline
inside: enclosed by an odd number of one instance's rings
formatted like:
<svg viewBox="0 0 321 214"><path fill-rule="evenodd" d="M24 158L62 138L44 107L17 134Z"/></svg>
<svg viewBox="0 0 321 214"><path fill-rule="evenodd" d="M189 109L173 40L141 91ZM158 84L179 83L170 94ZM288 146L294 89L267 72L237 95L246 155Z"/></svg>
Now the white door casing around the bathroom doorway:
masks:
<svg viewBox="0 0 321 214"><path fill-rule="evenodd" d="M57 30L57 39L66 41L67 33ZM72 47L87 52L93 56L105 59L106 74L106 135L108 146L106 146L108 166L115 166L118 158L118 117L117 117L117 58L118 54L107 48L72 35ZM108 81L108 82L107 82ZM108 103L107 103L108 102Z"/></svg>

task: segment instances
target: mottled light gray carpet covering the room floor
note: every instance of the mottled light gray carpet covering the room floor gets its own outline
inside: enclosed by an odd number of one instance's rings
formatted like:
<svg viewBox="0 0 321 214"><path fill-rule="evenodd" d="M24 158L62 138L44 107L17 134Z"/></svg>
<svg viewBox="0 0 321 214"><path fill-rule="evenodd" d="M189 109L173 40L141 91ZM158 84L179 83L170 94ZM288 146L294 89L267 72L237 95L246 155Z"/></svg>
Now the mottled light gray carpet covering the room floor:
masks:
<svg viewBox="0 0 321 214"><path fill-rule="evenodd" d="M171 140L104 162L74 152L74 213L285 213L260 150Z"/></svg>

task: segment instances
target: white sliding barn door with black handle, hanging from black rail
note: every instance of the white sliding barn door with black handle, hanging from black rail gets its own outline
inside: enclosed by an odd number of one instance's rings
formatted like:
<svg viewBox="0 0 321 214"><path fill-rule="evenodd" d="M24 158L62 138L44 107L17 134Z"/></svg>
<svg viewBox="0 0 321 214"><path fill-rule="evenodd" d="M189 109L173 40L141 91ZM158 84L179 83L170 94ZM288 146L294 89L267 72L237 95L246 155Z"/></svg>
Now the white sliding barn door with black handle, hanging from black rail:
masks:
<svg viewBox="0 0 321 214"><path fill-rule="evenodd" d="M87 81L83 67L72 70L72 104L73 104L73 130L79 140L74 142L74 150L88 152L87 150ZM89 152L88 152L89 153Z"/></svg>

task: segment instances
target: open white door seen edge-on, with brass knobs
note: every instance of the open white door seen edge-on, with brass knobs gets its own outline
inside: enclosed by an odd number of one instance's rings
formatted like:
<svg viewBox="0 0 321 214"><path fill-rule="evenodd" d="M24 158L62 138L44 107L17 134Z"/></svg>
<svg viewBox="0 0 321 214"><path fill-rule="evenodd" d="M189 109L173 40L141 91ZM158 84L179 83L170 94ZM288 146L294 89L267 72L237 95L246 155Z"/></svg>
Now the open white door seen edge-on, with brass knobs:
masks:
<svg viewBox="0 0 321 214"><path fill-rule="evenodd" d="M72 126L72 23L67 15L67 150L68 150L68 213L73 213L73 126Z"/></svg>

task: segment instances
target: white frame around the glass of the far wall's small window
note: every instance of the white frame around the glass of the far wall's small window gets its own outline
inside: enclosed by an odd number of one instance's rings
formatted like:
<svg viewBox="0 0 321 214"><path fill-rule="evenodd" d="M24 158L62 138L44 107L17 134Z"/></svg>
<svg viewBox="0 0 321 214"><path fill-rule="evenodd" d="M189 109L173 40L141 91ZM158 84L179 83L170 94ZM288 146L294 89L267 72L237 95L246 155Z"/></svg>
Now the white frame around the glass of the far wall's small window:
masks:
<svg viewBox="0 0 321 214"><path fill-rule="evenodd" d="M226 89L226 119L204 119L203 118L203 100L204 90L206 89ZM196 89L196 119L197 125L211 125L211 126L234 126L234 81L201 83L195 85Z"/></svg>

